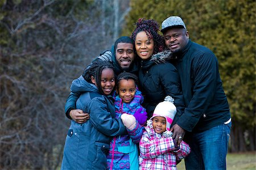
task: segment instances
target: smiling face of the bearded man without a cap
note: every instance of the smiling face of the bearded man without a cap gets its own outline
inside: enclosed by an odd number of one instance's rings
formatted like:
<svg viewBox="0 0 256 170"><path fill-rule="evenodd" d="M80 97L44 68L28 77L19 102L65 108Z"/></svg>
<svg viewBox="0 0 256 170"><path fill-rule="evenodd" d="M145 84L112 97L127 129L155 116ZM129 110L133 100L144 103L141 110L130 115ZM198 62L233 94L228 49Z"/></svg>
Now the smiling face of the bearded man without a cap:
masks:
<svg viewBox="0 0 256 170"><path fill-rule="evenodd" d="M115 50L115 58L122 69L128 69L134 61L133 44L119 42Z"/></svg>

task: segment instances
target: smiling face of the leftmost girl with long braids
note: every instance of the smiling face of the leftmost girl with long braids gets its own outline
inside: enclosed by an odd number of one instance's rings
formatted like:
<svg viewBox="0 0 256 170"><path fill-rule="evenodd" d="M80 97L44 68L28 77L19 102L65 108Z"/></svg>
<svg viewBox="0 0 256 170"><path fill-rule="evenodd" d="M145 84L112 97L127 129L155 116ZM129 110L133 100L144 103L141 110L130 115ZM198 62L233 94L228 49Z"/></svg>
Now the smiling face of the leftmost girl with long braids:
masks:
<svg viewBox="0 0 256 170"><path fill-rule="evenodd" d="M92 76L92 83L96 86L96 80ZM115 86L115 75L112 69L103 69L101 73L101 88L105 95L110 95Z"/></svg>

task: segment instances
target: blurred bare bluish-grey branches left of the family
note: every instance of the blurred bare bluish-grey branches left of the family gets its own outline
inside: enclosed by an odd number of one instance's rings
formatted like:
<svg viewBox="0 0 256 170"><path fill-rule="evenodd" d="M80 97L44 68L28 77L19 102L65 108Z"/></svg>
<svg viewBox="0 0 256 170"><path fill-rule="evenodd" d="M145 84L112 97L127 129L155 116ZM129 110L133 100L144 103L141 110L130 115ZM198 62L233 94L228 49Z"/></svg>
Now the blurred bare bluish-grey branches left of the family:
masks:
<svg viewBox="0 0 256 170"><path fill-rule="evenodd" d="M1 1L0 169L60 166L69 87L116 39L114 2Z"/></svg>

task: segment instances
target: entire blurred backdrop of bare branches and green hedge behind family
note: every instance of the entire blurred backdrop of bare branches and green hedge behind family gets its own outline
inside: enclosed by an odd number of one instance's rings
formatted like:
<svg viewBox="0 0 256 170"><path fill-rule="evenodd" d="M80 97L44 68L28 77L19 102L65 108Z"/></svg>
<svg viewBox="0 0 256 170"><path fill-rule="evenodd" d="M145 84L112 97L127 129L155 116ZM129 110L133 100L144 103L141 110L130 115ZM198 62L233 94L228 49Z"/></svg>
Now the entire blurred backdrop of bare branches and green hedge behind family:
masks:
<svg viewBox="0 0 256 170"><path fill-rule="evenodd" d="M72 80L121 29L129 36L138 18L160 24L170 15L219 60L230 151L255 150L255 1L6 0L0 8L0 169L59 167Z"/></svg>

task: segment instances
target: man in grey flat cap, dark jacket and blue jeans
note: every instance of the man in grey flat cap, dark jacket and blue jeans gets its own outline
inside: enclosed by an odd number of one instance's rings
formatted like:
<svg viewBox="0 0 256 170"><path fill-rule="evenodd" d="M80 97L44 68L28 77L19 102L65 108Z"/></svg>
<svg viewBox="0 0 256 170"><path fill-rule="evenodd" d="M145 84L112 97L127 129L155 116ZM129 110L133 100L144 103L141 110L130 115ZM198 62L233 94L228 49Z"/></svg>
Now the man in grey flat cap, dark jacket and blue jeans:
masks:
<svg viewBox="0 0 256 170"><path fill-rule="evenodd" d="M189 40L179 16L164 20L161 32L172 58L176 58L171 61L184 95L185 111L171 131L176 141L187 132L191 153L185 158L186 169L226 169L232 123L217 58L205 46Z"/></svg>

